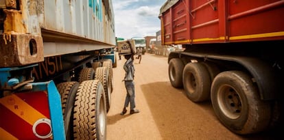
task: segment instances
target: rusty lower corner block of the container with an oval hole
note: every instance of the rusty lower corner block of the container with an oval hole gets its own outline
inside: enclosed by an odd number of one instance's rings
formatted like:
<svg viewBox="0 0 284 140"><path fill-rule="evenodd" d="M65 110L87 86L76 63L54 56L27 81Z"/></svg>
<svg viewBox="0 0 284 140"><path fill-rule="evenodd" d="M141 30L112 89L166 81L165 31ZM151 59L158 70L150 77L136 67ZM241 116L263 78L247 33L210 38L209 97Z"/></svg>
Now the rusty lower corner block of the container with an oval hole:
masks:
<svg viewBox="0 0 284 140"><path fill-rule="evenodd" d="M41 36L20 33L7 36L0 35L0 67L25 66L44 60Z"/></svg>

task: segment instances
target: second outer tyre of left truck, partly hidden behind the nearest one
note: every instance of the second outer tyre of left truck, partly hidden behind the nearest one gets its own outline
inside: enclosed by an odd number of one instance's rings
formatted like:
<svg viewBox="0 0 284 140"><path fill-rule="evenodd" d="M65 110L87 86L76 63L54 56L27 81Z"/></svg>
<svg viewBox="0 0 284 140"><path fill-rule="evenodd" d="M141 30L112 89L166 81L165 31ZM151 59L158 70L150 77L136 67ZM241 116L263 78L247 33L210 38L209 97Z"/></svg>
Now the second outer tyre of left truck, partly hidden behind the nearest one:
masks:
<svg viewBox="0 0 284 140"><path fill-rule="evenodd" d="M106 112L110 109L110 102L111 102L111 94L110 94L110 82L108 76L108 68L106 67L99 67L95 70L95 79L98 79L102 82L104 87L104 94L106 95Z"/></svg>

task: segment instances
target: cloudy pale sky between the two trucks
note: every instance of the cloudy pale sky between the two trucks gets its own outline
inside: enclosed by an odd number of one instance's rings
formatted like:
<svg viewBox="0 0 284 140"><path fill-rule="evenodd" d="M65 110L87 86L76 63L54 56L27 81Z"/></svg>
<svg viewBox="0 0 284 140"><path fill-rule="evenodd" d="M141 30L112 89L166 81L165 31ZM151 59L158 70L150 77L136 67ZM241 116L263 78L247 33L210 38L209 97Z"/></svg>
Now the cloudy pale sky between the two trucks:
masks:
<svg viewBox="0 0 284 140"><path fill-rule="evenodd" d="M124 39L156 36L156 32L161 30L158 14L165 1L113 0L115 36Z"/></svg>

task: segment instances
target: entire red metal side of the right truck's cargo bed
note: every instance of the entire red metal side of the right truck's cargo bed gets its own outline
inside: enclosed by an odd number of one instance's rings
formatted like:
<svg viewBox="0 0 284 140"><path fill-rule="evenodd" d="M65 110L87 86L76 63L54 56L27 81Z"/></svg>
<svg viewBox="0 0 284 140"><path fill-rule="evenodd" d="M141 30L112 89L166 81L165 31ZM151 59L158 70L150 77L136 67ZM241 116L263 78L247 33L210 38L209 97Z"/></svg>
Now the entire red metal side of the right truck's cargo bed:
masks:
<svg viewBox="0 0 284 140"><path fill-rule="evenodd" d="M284 1L180 0L162 13L164 44L284 40Z"/></svg>

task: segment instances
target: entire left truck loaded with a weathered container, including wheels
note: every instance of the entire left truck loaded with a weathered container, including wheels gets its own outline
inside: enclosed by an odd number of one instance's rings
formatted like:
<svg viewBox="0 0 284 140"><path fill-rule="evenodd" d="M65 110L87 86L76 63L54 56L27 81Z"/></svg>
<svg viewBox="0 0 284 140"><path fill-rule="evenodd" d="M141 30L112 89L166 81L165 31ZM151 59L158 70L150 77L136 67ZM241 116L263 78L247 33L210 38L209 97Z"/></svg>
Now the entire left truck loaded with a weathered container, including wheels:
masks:
<svg viewBox="0 0 284 140"><path fill-rule="evenodd" d="M0 0L0 139L106 139L110 0Z"/></svg>

